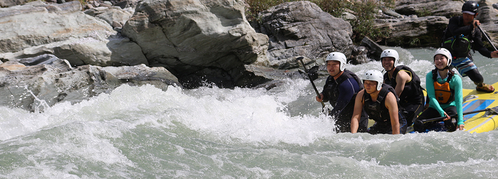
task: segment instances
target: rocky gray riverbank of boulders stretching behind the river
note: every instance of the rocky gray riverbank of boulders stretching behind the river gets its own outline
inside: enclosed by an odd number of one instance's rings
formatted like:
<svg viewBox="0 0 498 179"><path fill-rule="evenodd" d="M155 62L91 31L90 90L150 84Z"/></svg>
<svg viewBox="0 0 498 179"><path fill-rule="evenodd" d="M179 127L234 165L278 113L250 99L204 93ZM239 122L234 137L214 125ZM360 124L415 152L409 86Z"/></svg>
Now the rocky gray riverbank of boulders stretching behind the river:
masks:
<svg viewBox="0 0 498 179"><path fill-rule="evenodd" d="M397 0L375 20L386 46L435 47L464 1ZM498 10L481 0L478 19L495 45ZM127 84L270 89L302 78L295 58L319 68L333 51L351 63L384 46L351 40L352 27L309 1L286 2L245 17L243 0L55 2L0 0L0 105L41 111ZM429 15L427 15L429 14ZM421 16L427 15L427 16Z"/></svg>

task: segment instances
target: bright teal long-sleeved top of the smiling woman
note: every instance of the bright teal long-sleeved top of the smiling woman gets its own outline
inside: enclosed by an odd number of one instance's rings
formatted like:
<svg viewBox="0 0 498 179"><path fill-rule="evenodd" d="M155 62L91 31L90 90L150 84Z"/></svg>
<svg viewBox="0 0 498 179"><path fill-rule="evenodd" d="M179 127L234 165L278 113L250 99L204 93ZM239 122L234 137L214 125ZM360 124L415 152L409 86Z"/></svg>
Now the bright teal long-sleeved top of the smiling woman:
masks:
<svg viewBox="0 0 498 179"><path fill-rule="evenodd" d="M439 73L437 73L437 83L439 84L444 84L448 80L448 78L441 79L441 76ZM448 82L450 84L450 89L453 89L455 91L454 97L455 100L446 103L446 104L440 104L435 95L435 90L434 90L434 80L432 79L432 72L427 73L427 76L425 77L425 86L427 90L427 96L429 96L429 107L432 107L436 109L441 117L445 116L444 115L444 110L447 107L450 106L456 106L457 107L457 125L464 124L464 119L463 119L463 110L462 110L462 101L463 101L463 94L462 94L462 79L458 75L453 75L453 77L450 79Z"/></svg>

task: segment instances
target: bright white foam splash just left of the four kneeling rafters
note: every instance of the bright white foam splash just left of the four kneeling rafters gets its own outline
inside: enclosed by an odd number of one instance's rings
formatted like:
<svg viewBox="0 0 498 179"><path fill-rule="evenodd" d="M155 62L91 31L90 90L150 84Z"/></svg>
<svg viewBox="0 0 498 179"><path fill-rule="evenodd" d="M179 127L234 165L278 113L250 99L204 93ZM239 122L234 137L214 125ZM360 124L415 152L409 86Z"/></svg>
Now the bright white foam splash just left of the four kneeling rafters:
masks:
<svg viewBox="0 0 498 179"><path fill-rule="evenodd" d="M197 89L196 92L207 89ZM194 130L223 138L247 142L285 142L306 145L317 138L333 135L330 118L322 116L289 117L282 102L260 90L209 89L204 96L185 103L184 123ZM179 111L175 111L179 112Z"/></svg>

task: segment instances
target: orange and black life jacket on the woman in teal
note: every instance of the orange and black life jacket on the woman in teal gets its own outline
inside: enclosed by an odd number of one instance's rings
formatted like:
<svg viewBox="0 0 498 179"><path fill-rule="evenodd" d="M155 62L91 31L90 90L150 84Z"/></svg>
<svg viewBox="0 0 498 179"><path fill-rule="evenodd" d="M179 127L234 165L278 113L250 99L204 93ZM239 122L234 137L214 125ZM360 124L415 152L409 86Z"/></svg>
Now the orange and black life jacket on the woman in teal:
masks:
<svg viewBox="0 0 498 179"><path fill-rule="evenodd" d="M438 69L432 70L432 80L434 80L434 95L440 104L447 104L455 100L455 89L450 88L450 80L453 72L448 72L448 80L444 84L437 82Z"/></svg>

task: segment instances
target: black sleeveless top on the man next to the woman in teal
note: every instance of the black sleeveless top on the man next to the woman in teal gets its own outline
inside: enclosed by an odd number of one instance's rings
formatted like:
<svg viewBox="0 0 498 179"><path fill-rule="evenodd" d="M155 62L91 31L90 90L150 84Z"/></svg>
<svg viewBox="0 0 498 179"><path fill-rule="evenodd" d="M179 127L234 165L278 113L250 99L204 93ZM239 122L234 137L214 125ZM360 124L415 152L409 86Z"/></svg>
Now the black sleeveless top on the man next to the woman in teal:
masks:
<svg viewBox="0 0 498 179"><path fill-rule="evenodd" d="M392 77L389 77L389 73L384 74L384 83L396 88L396 77L399 71L405 71L411 77L411 81L405 83L403 92L399 95L399 101L401 105L403 104L422 104L424 99L423 88L420 86L420 78L417 74L413 72L410 68L404 65L397 66L394 68Z"/></svg>

